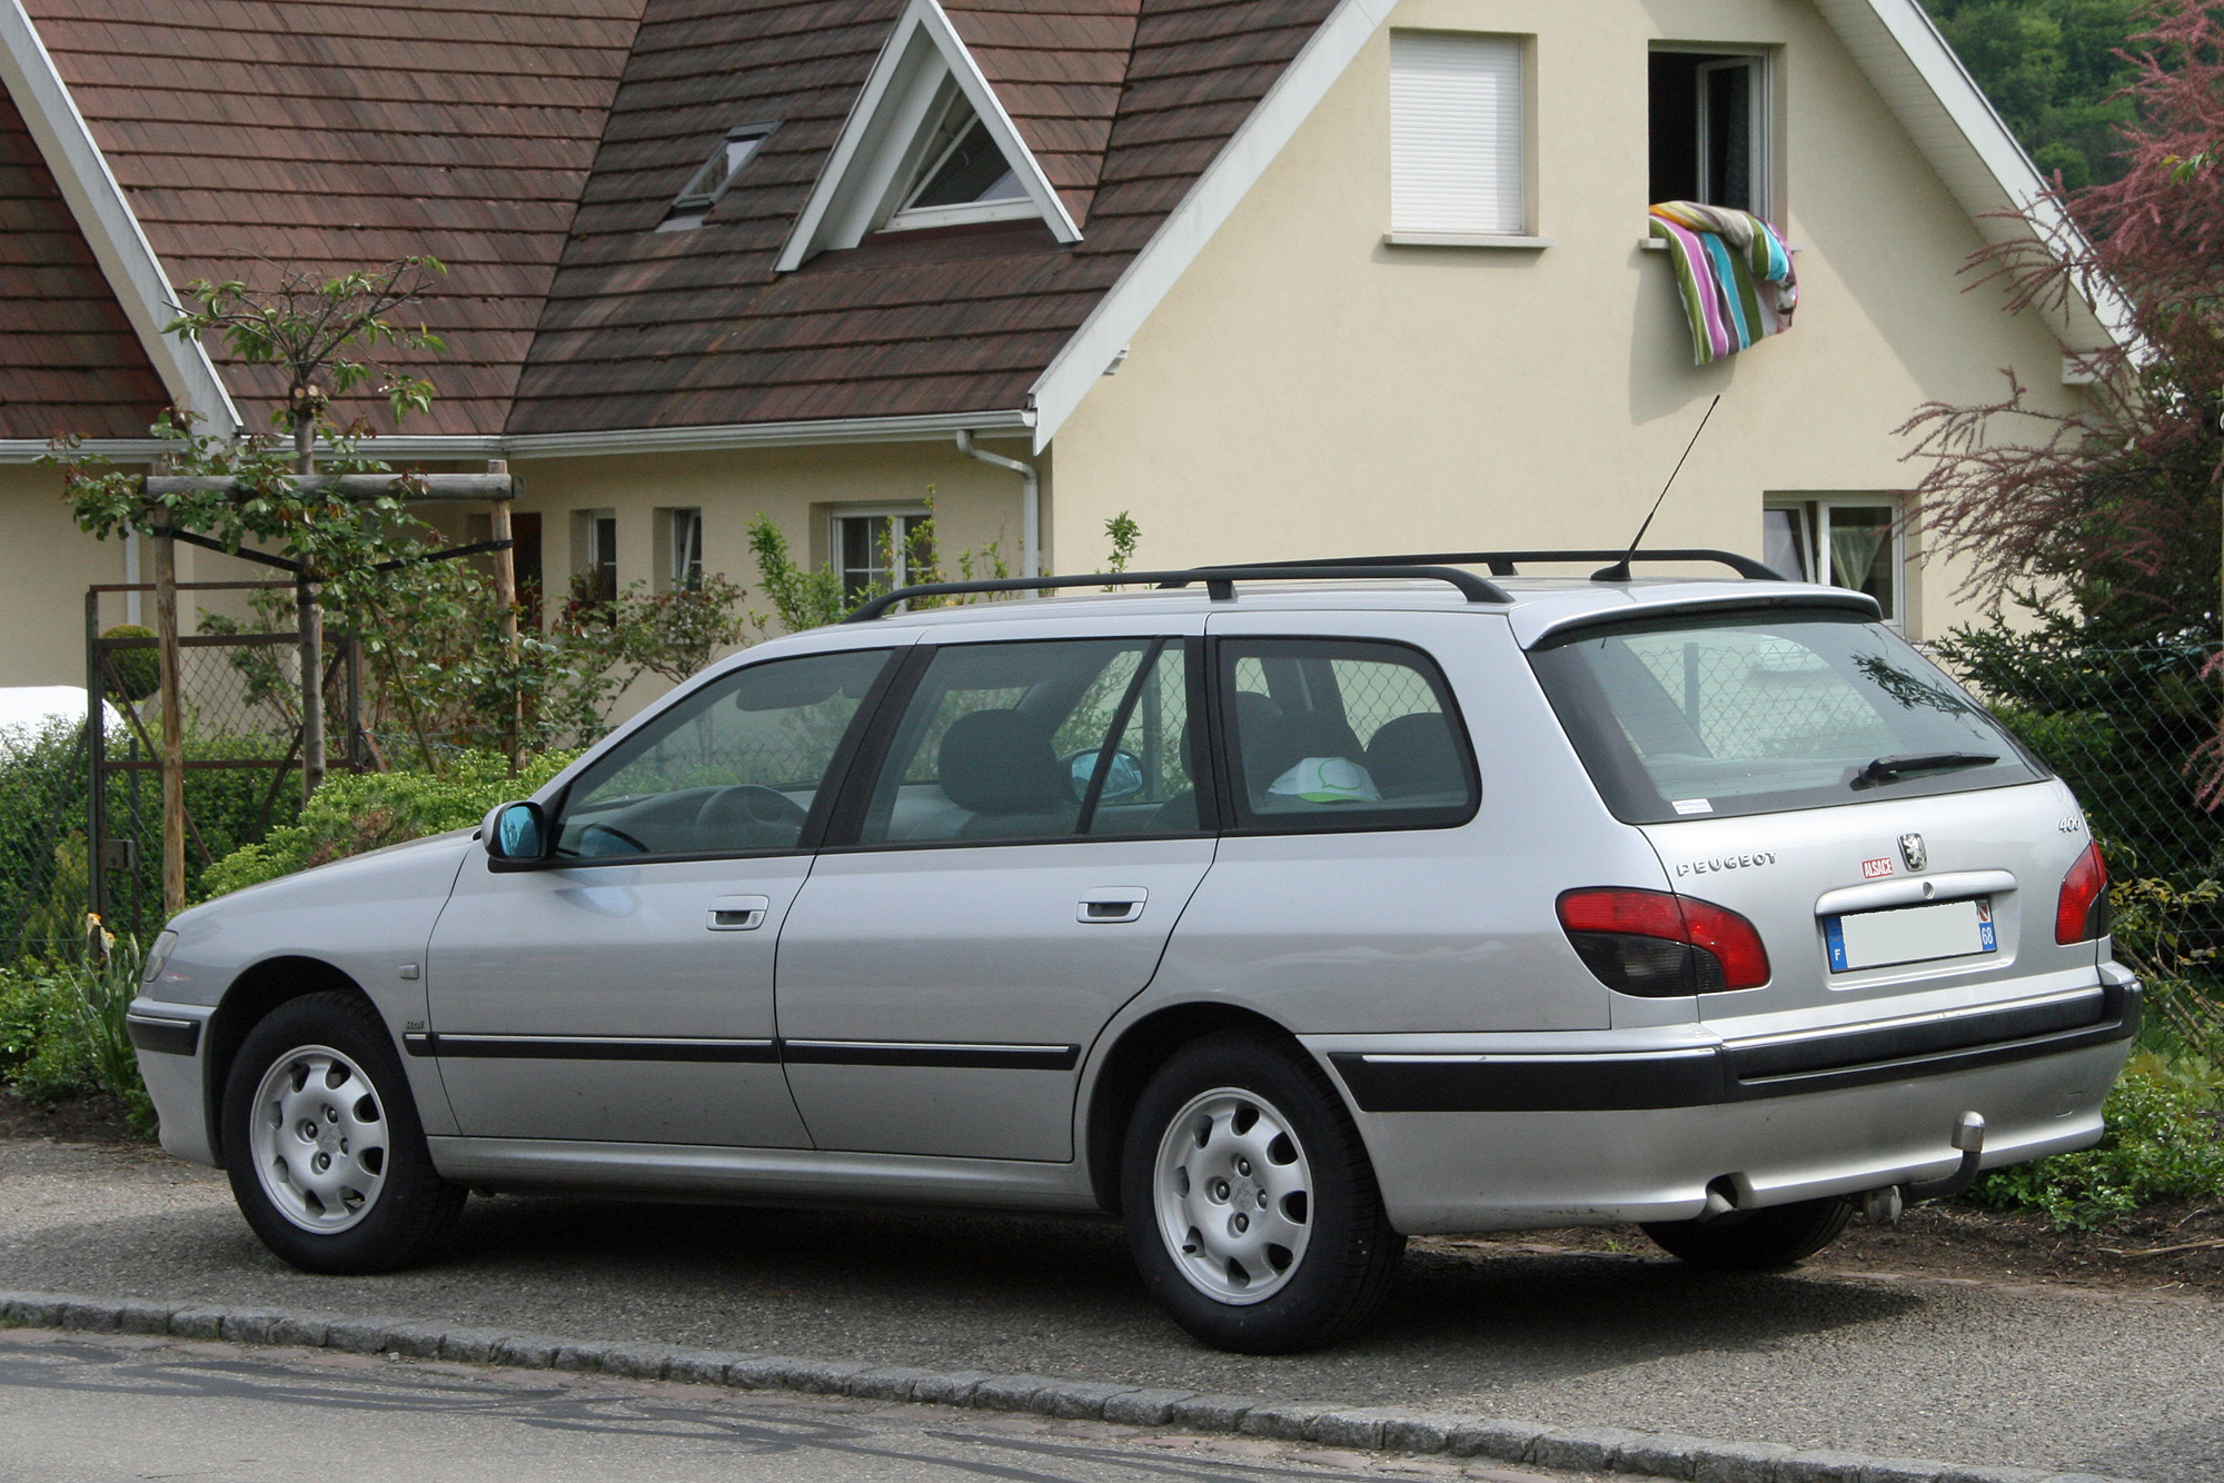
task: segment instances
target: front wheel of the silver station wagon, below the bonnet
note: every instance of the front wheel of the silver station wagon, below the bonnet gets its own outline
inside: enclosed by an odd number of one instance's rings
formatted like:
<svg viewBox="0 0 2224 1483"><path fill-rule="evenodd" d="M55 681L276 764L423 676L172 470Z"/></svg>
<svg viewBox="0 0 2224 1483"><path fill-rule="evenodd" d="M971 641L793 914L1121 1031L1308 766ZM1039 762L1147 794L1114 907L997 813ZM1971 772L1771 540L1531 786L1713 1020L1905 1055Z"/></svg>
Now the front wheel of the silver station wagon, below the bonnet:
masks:
<svg viewBox="0 0 2224 1483"><path fill-rule="evenodd" d="M394 1036L354 994L287 1001L247 1032L220 1132L240 1214L302 1272L407 1265L469 1194L434 1170Z"/></svg>

